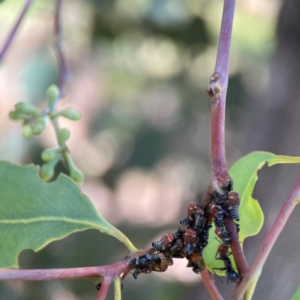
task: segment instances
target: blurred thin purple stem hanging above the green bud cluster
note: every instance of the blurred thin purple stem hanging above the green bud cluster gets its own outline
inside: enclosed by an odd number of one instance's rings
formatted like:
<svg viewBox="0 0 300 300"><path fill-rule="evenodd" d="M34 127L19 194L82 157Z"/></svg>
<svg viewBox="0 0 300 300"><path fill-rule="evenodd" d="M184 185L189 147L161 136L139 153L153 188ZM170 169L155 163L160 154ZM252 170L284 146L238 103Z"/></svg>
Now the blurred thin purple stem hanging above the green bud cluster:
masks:
<svg viewBox="0 0 300 300"><path fill-rule="evenodd" d="M59 83L58 88L60 91L60 96L56 102L64 96L65 94L65 83L69 77L69 72L67 69L67 64L65 60L64 53L62 51L62 26L61 26L61 4L62 0L57 0L54 18L54 35L55 35L55 45L56 45L56 55L59 66Z"/></svg>

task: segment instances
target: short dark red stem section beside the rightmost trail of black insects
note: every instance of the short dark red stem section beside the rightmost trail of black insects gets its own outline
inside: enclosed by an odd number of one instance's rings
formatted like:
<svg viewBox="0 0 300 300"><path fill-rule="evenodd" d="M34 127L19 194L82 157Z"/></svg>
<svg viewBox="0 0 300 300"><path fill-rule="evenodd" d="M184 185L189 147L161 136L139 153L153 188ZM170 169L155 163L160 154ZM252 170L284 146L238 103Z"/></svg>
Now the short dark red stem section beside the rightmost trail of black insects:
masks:
<svg viewBox="0 0 300 300"><path fill-rule="evenodd" d="M239 243L239 237L237 235L236 225L231 218L224 218L224 224L227 232L229 232L230 248L232 251L234 261L236 263L236 267L238 269L238 273L244 276L244 274L246 274L250 268L247 264L246 258L244 256L244 252Z"/></svg>

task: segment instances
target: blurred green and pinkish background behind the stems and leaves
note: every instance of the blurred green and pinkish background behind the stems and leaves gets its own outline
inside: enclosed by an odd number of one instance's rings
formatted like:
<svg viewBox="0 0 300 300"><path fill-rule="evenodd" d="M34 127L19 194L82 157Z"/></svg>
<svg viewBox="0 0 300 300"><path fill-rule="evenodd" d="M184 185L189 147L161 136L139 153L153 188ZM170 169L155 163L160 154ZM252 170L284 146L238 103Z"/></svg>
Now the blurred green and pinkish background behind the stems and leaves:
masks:
<svg viewBox="0 0 300 300"><path fill-rule="evenodd" d="M20 0L1 4L1 41L22 5ZM41 136L24 141L21 125L8 119L17 102L44 107L47 88L58 82L54 5L55 1L34 1L0 66L2 160L41 164L41 151L56 146L50 126ZM71 130L68 146L85 175L83 192L138 248L176 231L186 205L198 201L209 182L210 101L203 90L214 69L222 5L221 0L63 1L63 49L72 76L60 107L75 107L83 117L61 124ZM229 166L253 150L299 155L299 15L296 0L237 1L227 98ZM297 166L273 169L282 177L262 171L268 188L261 184L257 192L266 213L265 230L279 207L264 207L271 201L267 197L276 203L276 194L280 204L294 173L299 173ZM58 173L65 171L63 164L58 166ZM250 262L263 236L258 238L245 243ZM113 238L87 231L39 253L24 251L20 266L102 265L126 254ZM128 276L123 299L209 299L199 276L185 265L176 261L166 273L141 275L138 280ZM293 294L299 280L291 285L286 275L289 283L281 289L282 298L275 288L278 278L271 277L282 274L282 268L271 259L265 276L269 281L258 286L255 299L289 299L285 296ZM225 294L233 289L216 281ZM270 282L272 292L265 291ZM2 282L0 299L95 299L91 283ZM108 299L113 299L112 293Z"/></svg>

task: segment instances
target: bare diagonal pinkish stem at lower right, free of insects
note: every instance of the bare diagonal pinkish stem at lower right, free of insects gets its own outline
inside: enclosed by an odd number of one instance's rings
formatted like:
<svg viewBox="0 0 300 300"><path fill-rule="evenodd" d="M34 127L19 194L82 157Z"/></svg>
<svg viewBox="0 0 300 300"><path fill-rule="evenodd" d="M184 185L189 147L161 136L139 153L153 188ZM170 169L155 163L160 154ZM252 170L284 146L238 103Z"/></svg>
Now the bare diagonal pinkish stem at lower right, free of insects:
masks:
<svg viewBox="0 0 300 300"><path fill-rule="evenodd" d="M256 257L256 260L251 267L250 271L245 274L242 282L239 286L237 286L236 290L234 291L231 299L232 300L239 300L243 298L243 294L245 293L248 285L250 282L255 278L259 277L262 271L262 268L280 234L283 227L285 226L286 222L288 221L292 211L294 210L295 206L300 202L300 177L298 178L292 192L290 193L289 197L286 199L285 203L283 204L282 208L280 209L277 218L275 219L272 228L270 229L269 233L267 234L262 247Z"/></svg>

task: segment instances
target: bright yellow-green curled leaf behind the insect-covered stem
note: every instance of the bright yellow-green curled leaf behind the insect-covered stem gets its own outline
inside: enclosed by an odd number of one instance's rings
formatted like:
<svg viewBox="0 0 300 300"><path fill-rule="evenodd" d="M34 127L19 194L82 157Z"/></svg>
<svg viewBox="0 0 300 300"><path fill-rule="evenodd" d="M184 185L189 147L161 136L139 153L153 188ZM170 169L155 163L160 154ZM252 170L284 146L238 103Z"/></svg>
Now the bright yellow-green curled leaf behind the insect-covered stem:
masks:
<svg viewBox="0 0 300 300"><path fill-rule="evenodd" d="M240 233L239 240L243 243L248 236L256 235L261 230L264 221L262 209L257 200L252 197L253 190L258 180L258 171L268 163L268 166L284 163L300 163L300 157L275 155L270 152L252 152L238 160L229 170L234 182L234 191L240 194ZM209 244L204 250L205 263L209 269L224 267L222 261L216 261L220 243L216 240L215 228L211 228ZM233 263L234 265L234 263ZM218 274L224 272L216 271Z"/></svg>

